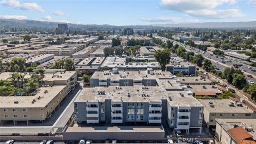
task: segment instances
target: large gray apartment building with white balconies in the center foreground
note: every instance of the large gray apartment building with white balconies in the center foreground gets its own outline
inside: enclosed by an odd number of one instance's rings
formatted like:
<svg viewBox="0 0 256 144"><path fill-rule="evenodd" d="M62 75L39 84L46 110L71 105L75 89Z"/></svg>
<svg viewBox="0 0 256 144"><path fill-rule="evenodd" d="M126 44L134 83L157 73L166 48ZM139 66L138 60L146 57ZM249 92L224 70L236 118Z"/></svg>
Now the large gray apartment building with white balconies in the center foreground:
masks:
<svg viewBox="0 0 256 144"><path fill-rule="evenodd" d="M97 79L100 75L97 73L94 73L92 79ZM79 93L74 101L77 122L149 125L167 122L173 132L181 130L189 133L191 129L201 132L203 105L170 72L151 71L151 74L147 74L147 71L141 71L141 75L138 71L110 73L113 72L101 72L102 77L111 77L110 85L106 86L108 82L98 82L99 86L93 85ZM128 76L130 73L131 76ZM141 81L148 75L152 78L155 76L155 84L145 86L142 82L129 82L133 85L121 86L123 77L133 76L135 80Z"/></svg>

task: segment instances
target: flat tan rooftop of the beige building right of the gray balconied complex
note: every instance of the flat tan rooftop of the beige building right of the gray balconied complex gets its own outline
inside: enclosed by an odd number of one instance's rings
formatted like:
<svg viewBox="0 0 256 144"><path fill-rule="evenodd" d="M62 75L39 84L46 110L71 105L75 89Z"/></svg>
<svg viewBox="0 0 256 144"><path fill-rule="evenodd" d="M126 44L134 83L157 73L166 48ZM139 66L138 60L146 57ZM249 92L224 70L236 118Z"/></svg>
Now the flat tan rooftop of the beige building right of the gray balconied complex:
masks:
<svg viewBox="0 0 256 144"><path fill-rule="evenodd" d="M230 107L228 104L234 102L229 99L198 99L205 109L210 113L253 113L251 109L243 107ZM213 102L214 107L210 107L209 102Z"/></svg>

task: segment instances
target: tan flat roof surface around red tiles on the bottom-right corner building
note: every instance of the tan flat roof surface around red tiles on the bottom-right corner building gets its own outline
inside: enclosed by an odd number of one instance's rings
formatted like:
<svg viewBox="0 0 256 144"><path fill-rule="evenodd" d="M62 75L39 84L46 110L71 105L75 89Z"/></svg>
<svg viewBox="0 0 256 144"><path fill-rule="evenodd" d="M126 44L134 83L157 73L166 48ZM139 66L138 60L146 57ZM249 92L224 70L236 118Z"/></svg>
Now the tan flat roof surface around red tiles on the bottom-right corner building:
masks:
<svg viewBox="0 0 256 144"><path fill-rule="evenodd" d="M223 129L225 129L226 131L230 130L230 129L234 129L234 127L232 126L233 124L236 124L238 126L242 126L242 127L252 127L253 131L249 132L252 136L253 139L256 140L256 119L224 119L224 118L216 118L215 119L217 123L221 124L221 126L223 127Z"/></svg>

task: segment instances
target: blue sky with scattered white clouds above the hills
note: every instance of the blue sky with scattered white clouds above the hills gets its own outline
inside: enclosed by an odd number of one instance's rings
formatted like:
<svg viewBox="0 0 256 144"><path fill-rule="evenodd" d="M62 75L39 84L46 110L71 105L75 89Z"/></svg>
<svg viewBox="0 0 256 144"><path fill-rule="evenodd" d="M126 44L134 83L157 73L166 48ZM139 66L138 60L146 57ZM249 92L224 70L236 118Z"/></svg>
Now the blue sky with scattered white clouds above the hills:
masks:
<svg viewBox="0 0 256 144"><path fill-rule="evenodd" d="M256 21L256 0L0 0L0 18L116 26Z"/></svg>

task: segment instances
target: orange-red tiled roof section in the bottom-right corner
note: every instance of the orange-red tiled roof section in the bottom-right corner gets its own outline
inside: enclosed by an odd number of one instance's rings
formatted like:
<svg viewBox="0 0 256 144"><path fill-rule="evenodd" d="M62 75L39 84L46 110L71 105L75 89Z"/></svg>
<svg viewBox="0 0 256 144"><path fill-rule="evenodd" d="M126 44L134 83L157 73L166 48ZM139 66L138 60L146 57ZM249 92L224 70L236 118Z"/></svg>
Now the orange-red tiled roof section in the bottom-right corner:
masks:
<svg viewBox="0 0 256 144"><path fill-rule="evenodd" d="M228 130L228 133L238 144L245 144L252 138L252 135L241 126ZM251 142L255 143L253 140Z"/></svg>

